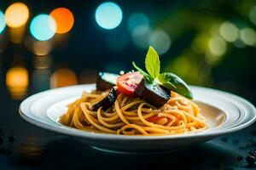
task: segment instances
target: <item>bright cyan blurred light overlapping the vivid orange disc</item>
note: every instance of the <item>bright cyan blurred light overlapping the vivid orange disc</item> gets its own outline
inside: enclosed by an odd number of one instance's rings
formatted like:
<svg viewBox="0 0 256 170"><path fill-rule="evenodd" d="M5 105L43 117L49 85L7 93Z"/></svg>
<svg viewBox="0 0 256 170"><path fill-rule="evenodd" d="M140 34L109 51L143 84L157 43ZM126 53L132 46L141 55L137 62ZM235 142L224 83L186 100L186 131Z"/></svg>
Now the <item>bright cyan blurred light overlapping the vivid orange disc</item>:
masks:
<svg viewBox="0 0 256 170"><path fill-rule="evenodd" d="M39 41L46 41L54 37L56 31L55 20L48 14L38 14L30 24L32 37Z"/></svg>

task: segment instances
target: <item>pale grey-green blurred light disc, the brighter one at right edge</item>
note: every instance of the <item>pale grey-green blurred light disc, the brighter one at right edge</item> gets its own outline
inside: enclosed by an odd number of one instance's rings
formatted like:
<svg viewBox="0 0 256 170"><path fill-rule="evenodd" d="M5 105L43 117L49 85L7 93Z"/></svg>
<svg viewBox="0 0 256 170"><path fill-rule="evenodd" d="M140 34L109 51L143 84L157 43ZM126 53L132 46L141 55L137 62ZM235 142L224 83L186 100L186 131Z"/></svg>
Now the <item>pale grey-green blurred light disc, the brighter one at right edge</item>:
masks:
<svg viewBox="0 0 256 170"><path fill-rule="evenodd" d="M252 28L243 28L240 31L240 38L245 44L253 46L256 42L256 33Z"/></svg>

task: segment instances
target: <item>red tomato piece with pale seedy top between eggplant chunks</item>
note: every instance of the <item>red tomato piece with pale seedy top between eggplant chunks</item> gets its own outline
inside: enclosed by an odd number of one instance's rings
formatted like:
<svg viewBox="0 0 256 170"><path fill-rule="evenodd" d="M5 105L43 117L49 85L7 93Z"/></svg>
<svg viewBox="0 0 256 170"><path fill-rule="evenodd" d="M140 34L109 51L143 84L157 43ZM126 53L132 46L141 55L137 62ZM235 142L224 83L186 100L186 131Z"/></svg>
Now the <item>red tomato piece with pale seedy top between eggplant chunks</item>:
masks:
<svg viewBox="0 0 256 170"><path fill-rule="evenodd" d="M138 71L126 73L117 78L118 90L121 94L125 94L129 97L134 96L134 92L137 85L142 81L143 75Z"/></svg>

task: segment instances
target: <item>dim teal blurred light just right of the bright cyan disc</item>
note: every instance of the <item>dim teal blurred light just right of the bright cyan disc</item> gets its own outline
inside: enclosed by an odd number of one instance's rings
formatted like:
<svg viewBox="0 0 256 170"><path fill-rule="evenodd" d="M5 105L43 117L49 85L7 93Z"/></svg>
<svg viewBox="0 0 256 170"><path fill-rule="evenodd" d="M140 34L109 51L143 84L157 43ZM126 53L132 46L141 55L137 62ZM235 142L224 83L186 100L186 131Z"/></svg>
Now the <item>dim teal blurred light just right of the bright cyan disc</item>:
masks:
<svg viewBox="0 0 256 170"><path fill-rule="evenodd" d="M131 14L128 20L128 29L134 36L142 35L149 31L149 20L146 14Z"/></svg>

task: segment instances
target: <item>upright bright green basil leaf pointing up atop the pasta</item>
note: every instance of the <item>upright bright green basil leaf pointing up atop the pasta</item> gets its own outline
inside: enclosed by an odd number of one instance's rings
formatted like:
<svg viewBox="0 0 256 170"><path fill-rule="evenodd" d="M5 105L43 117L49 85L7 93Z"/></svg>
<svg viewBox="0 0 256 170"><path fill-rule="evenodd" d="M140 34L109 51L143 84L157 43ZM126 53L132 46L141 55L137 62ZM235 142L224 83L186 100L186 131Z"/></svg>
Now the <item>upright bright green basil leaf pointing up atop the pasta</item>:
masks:
<svg viewBox="0 0 256 170"><path fill-rule="evenodd" d="M160 59L154 48L148 48L148 54L145 59L146 70L153 78L157 78L160 73Z"/></svg>

